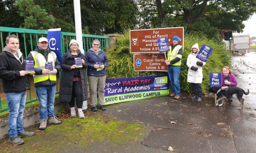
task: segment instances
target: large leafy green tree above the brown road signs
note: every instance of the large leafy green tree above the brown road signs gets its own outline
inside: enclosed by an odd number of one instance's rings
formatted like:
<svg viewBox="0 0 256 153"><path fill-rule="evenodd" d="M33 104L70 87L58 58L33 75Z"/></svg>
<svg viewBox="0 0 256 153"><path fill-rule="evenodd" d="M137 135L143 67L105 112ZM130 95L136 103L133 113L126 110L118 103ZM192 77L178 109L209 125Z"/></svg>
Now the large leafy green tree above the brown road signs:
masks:
<svg viewBox="0 0 256 153"><path fill-rule="evenodd" d="M242 21L248 20L256 12L255 0L137 0L135 5L148 13L146 16L141 12L141 15L153 27L175 23L176 26L186 27L188 32L203 33L209 33L208 28L213 31L218 29L219 32L242 32Z"/></svg>

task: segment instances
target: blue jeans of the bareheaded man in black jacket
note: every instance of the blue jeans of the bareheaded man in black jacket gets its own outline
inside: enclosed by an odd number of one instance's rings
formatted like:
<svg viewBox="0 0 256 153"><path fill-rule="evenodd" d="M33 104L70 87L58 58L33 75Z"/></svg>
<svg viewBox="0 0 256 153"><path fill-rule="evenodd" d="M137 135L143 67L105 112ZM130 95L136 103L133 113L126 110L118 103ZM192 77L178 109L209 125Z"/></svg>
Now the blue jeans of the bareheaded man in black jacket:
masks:
<svg viewBox="0 0 256 153"><path fill-rule="evenodd" d="M5 93L7 104L9 107L8 117L8 133L11 138L24 131L23 126L23 112L25 109L27 92L26 90L20 92Z"/></svg>

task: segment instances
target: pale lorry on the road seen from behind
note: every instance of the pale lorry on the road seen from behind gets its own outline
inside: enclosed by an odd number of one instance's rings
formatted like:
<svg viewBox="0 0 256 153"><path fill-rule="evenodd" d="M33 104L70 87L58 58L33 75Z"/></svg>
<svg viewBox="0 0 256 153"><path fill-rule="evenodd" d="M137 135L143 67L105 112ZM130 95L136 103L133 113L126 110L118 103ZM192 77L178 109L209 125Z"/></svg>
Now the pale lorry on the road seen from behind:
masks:
<svg viewBox="0 0 256 153"><path fill-rule="evenodd" d="M231 46L233 45L234 54L243 55L243 54L249 53L250 52L250 35L233 36L233 42L230 42L230 45Z"/></svg>

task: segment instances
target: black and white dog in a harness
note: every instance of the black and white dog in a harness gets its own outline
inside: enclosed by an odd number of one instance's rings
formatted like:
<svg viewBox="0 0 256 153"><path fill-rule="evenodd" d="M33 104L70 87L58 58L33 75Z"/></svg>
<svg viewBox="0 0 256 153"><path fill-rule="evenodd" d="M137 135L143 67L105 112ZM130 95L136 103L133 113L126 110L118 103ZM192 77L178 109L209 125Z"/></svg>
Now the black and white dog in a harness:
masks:
<svg viewBox="0 0 256 153"><path fill-rule="evenodd" d="M243 108L243 101L244 101L244 99L242 97L243 97L243 94L245 94L245 95L249 94L249 89L247 89L247 90L248 90L248 92L246 93L242 88L235 87L235 86L228 87L228 95L236 94L237 99L242 104L242 106L239 107L238 109L242 109ZM214 93L214 94L217 94L217 95L220 96L220 98L217 100L216 106L222 106L223 105L223 98L226 97L226 91L225 90L221 90L221 87L212 87L212 88L209 89L209 95L210 95L210 93ZM220 100L221 100L221 104L218 104L218 102Z"/></svg>

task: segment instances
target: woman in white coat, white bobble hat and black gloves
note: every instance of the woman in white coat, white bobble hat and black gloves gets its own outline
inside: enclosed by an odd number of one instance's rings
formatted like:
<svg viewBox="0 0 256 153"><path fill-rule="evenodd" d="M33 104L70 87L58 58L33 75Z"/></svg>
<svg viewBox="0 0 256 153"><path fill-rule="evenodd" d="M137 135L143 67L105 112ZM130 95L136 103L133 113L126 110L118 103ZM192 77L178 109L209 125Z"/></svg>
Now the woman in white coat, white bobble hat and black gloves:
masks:
<svg viewBox="0 0 256 153"><path fill-rule="evenodd" d="M202 87L201 83L203 80L203 69L202 66L205 65L205 62L202 62L200 59L196 58L196 55L199 52L198 44L192 46L191 54L187 58L188 66L188 78L187 82L191 82L192 92L194 94L191 99L197 99L197 102L201 102L202 99Z"/></svg>

